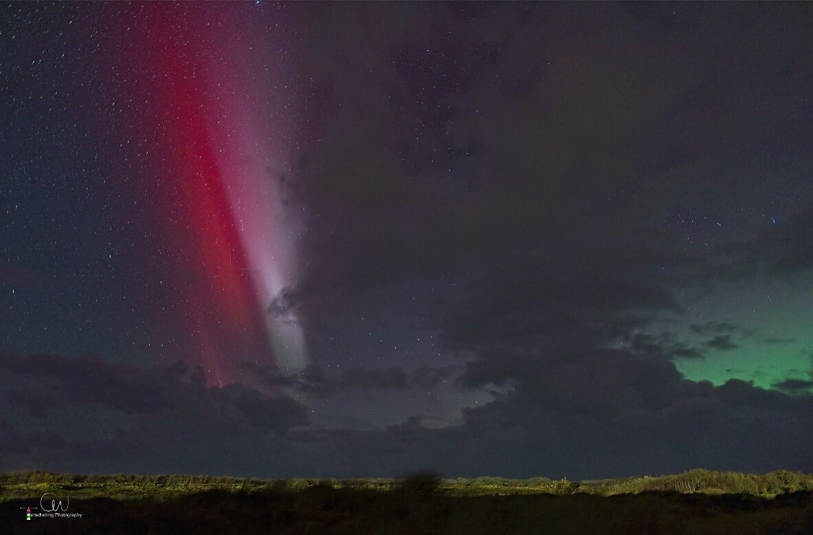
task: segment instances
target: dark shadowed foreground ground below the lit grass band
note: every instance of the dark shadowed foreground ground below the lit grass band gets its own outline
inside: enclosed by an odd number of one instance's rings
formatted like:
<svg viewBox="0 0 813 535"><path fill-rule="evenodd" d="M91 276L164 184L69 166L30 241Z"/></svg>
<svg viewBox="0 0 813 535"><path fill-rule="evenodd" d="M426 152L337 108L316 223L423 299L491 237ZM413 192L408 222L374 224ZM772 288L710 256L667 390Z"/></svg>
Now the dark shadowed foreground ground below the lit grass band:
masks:
<svg viewBox="0 0 813 535"><path fill-rule="evenodd" d="M82 513L80 519L25 520L24 508L35 505L37 498L0 503L0 533L813 533L810 491L773 499L664 492L454 496L315 485L298 492L72 499L68 512Z"/></svg>

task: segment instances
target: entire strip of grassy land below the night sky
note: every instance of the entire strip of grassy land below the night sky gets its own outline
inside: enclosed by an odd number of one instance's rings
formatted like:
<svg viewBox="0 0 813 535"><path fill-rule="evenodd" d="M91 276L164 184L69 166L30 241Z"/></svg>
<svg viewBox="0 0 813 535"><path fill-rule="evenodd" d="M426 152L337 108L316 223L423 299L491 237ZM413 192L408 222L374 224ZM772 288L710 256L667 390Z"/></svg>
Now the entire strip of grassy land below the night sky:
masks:
<svg viewBox="0 0 813 535"><path fill-rule="evenodd" d="M33 517L59 500L81 518ZM67 500L70 500L69 504ZM813 476L0 476L0 533L813 533Z"/></svg>

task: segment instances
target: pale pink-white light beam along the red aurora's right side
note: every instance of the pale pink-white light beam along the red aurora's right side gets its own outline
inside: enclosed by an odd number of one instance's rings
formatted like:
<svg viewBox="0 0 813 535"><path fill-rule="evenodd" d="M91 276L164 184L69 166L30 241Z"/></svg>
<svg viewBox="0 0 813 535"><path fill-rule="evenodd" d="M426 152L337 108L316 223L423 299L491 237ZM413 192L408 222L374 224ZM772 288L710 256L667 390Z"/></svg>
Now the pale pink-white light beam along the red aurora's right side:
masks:
<svg viewBox="0 0 813 535"><path fill-rule="evenodd" d="M266 44L267 45L267 44ZM298 222L281 199L279 178L289 171L296 142L282 67L263 65L251 49L232 46L228 61L211 66L206 85L211 113L207 124L220 175L228 195L233 224L241 238L254 285L256 306L277 365L302 368L307 359L300 320L291 312L271 310L272 302L296 283L295 236ZM263 80L250 72L263 72ZM274 89L278 91L274 94Z"/></svg>

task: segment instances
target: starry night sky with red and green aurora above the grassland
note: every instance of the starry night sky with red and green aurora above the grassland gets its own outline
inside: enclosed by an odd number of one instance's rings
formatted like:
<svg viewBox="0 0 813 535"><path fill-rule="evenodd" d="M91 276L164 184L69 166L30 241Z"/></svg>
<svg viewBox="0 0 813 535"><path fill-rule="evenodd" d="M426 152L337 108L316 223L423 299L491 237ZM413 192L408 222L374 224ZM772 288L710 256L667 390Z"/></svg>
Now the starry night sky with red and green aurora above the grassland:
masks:
<svg viewBox="0 0 813 535"><path fill-rule="evenodd" d="M0 471L813 472L813 4L0 6Z"/></svg>

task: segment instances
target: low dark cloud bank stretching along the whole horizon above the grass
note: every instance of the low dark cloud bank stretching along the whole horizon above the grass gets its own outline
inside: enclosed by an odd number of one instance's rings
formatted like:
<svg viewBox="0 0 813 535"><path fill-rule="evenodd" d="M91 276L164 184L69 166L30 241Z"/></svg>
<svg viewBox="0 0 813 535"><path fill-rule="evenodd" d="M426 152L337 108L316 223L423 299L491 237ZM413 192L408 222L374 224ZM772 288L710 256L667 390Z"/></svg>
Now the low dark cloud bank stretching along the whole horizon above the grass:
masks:
<svg viewBox="0 0 813 535"><path fill-rule="evenodd" d="M0 468L20 468L34 451L52 459L40 465L50 469L206 468L264 476L436 468L450 475L580 478L698 465L811 468L802 455L813 439L805 431L813 428L813 397L802 393L808 381L788 381L793 396L735 380L714 387L683 379L664 359L593 350L493 355L470 363L461 382L472 389L493 382L510 388L483 407L465 409L461 424L428 428L413 417L362 431L303 428L301 405L240 385L181 385L163 410L130 413L107 439L23 433L22 421L6 420Z"/></svg>

